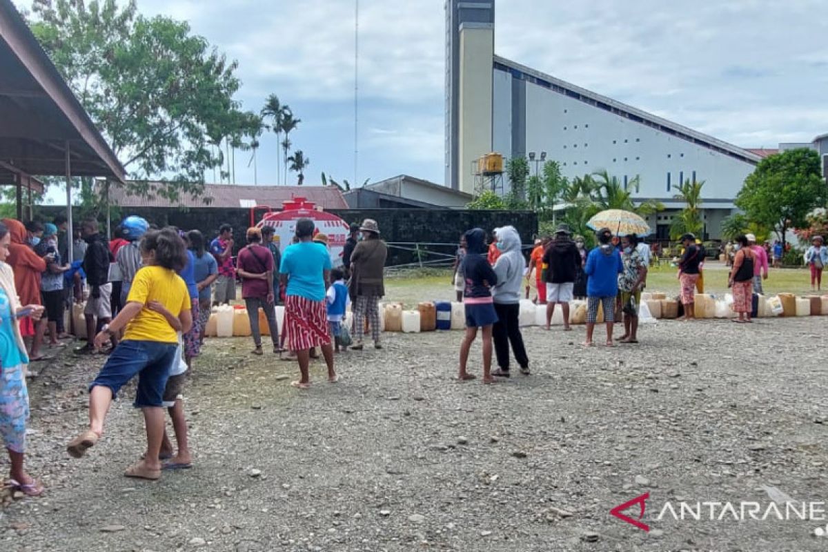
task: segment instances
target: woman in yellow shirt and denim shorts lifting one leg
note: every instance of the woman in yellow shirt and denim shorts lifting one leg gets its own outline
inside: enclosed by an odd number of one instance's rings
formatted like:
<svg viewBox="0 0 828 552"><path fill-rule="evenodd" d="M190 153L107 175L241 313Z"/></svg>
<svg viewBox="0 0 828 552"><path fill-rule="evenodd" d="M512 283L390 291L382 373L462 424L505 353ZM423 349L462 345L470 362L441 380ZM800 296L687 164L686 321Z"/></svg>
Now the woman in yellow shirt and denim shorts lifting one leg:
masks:
<svg viewBox="0 0 828 552"><path fill-rule="evenodd" d="M89 430L70 441L66 447L75 458L84 455L103 434L103 420L118 390L138 377L133 406L143 410L147 425L147 454L129 468L128 478L161 478L161 439L164 434L162 396L176 355L176 330L186 333L192 326L190 295L176 274L186 262L186 247L178 233L170 228L150 231L141 242L143 268L137 271L127 297L127 305L107 329L95 337L101 347L122 329L118 343L103 365L98 377L89 385ZM171 324L177 321L174 328Z"/></svg>

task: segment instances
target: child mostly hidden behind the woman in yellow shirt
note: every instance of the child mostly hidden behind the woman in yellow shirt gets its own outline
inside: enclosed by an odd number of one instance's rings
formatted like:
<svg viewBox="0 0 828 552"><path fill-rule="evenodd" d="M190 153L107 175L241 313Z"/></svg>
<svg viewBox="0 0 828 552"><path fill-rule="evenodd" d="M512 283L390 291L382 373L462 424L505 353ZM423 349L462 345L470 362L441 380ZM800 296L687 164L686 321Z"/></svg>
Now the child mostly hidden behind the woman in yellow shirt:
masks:
<svg viewBox="0 0 828 552"><path fill-rule="evenodd" d="M192 468L190 459L190 447L187 444L187 420L184 417L184 403L181 401L181 392L184 391L184 382L186 379L185 373L189 369L184 355L184 336L181 334L181 321L174 316L169 310L166 310L164 305L158 301L150 301L147 305L149 310L154 310L161 314L171 325L172 329L176 330L178 334L178 348L176 348L176 357L172 359L170 367L170 377L166 380L166 387L164 388L164 406L167 412L170 413L172 420L172 429L176 432L176 444L178 444L178 454L173 456L172 443L164 429L164 438L161 440L161 452L158 454L159 460L169 460L161 466L162 470L172 469L189 469ZM192 312L192 311L190 311ZM191 316L195 318L198 314L192 313Z"/></svg>

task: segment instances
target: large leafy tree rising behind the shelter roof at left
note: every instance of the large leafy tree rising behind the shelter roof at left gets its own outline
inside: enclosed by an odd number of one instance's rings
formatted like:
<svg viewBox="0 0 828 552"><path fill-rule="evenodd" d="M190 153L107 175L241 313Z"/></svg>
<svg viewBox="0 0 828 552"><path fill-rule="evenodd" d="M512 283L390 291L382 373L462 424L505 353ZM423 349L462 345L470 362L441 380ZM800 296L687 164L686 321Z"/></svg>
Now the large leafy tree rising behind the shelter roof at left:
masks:
<svg viewBox="0 0 828 552"><path fill-rule="evenodd" d="M233 108L235 61L185 22L143 17L134 0L37 0L30 24L137 180L128 192L175 201L204 190L205 170L222 162L208 128Z"/></svg>

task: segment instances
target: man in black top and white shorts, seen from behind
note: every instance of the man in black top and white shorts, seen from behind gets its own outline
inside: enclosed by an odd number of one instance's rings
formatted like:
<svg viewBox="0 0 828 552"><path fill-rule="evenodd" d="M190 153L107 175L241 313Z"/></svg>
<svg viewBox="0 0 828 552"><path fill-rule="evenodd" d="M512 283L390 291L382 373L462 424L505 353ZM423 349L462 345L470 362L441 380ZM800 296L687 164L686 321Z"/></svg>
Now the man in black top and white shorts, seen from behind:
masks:
<svg viewBox="0 0 828 552"><path fill-rule="evenodd" d="M555 305L561 305L564 314L564 329L570 330L569 304L574 299L575 278L580 268L580 252L570 238L570 229L566 224L559 224L555 239L546 247L543 254L546 265L546 329L552 324Z"/></svg>

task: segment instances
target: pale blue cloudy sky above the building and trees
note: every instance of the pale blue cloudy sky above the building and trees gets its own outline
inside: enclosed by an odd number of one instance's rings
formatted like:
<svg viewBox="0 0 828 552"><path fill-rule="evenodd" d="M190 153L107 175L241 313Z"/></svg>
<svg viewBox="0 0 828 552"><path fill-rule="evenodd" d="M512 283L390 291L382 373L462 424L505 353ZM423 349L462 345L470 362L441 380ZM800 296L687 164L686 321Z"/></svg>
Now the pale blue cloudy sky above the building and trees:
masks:
<svg viewBox="0 0 828 552"><path fill-rule="evenodd" d="M18 2L27 6L31 0ZM243 108L276 93L320 171L354 178L353 0L137 0L239 62ZM443 0L361 0L359 181L443 181ZM828 132L825 0L497 0L495 51L739 146ZM262 139L259 183L276 183ZM237 157L238 183L252 183Z"/></svg>

